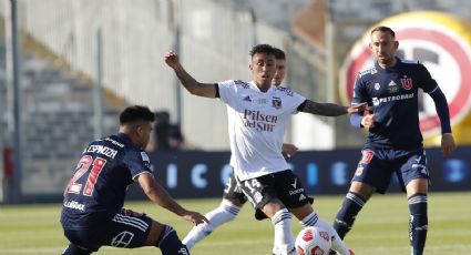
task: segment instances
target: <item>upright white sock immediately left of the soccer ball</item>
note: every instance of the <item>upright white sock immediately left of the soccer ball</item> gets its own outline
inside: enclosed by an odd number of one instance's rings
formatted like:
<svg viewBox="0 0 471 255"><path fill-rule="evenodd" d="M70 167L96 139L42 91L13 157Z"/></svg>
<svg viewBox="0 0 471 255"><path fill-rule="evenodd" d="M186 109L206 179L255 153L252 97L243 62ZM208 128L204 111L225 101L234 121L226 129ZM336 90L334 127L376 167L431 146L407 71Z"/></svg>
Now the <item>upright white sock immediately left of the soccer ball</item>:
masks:
<svg viewBox="0 0 471 255"><path fill-rule="evenodd" d="M275 226L275 249L281 255L287 255L295 248L295 238L291 233L291 214L287 208L275 213L272 217Z"/></svg>

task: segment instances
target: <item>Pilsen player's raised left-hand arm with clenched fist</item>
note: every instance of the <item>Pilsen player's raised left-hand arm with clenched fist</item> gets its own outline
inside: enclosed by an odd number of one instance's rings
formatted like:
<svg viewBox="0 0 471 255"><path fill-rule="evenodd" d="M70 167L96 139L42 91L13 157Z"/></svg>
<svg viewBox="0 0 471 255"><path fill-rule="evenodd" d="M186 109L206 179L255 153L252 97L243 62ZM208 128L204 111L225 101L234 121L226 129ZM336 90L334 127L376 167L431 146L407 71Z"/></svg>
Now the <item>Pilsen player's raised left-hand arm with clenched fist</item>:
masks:
<svg viewBox="0 0 471 255"><path fill-rule="evenodd" d="M201 83L196 81L192 75L190 75L186 70L182 67L178 60L178 54L173 51L170 51L165 54L165 63L171 67L180 82L185 86L185 89L195 95L205 96L205 98L216 98L216 86L214 83Z"/></svg>

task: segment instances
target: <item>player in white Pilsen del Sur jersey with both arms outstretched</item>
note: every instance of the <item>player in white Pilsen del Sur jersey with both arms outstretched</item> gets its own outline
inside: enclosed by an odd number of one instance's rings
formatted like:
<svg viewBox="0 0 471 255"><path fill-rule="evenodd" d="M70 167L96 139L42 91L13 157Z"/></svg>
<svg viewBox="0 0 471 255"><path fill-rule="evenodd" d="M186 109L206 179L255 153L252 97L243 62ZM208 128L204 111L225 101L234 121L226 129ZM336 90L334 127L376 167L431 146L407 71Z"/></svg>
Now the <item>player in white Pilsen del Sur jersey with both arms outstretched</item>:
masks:
<svg viewBox="0 0 471 255"><path fill-rule="evenodd" d="M239 187L254 207L272 220L280 254L296 254L291 213L304 226L316 225L327 230L332 236L332 249L341 255L352 254L330 224L314 212L301 182L289 170L281 154L281 145L289 118L296 112L338 116L364 111L366 104L340 106L317 103L289 89L272 85L276 72L274 48L255 45L250 57L250 82L201 83L185 71L175 52L167 52L165 62L190 93L218 98L226 104L231 165Z"/></svg>

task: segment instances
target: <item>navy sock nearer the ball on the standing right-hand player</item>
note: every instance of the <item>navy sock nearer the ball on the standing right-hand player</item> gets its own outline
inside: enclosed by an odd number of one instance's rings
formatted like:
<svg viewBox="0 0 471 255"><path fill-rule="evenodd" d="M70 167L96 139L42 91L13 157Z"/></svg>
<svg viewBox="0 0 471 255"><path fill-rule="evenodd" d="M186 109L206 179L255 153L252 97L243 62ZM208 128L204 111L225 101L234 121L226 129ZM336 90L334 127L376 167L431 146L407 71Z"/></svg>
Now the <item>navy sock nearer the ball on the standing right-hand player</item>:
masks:
<svg viewBox="0 0 471 255"><path fill-rule="evenodd" d="M334 230L340 238L347 235L351 230L355 220L357 218L358 213L364 207L366 201L359 195L348 192L345 196L344 204L337 213L336 220L334 222Z"/></svg>

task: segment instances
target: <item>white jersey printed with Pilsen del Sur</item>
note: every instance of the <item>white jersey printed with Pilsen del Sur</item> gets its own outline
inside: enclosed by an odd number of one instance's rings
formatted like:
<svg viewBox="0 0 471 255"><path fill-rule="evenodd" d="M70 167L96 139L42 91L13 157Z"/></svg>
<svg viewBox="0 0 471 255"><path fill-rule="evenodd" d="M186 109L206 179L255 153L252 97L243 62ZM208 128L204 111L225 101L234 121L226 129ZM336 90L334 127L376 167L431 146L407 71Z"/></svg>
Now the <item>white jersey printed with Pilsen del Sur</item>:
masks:
<svg viewBox="0 0 471 255"><path fill-rule="evenodd" d="M289 169L281 154L283 137L290 115L306 100L287 89L272 85L262 92L254 82L229 80L218 83L226 103L231 165L240 180Z"/></svg>

